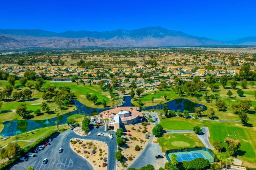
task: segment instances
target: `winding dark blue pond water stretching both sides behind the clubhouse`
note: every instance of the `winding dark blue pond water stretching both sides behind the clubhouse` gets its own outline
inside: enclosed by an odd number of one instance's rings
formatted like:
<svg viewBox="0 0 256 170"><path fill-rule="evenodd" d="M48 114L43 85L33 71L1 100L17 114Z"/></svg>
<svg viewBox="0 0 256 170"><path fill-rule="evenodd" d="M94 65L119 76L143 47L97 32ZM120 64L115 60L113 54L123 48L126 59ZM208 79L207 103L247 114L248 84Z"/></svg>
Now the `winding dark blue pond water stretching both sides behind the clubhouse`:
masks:
<svg viewBox="0 0 256 170"><path fill-rule="evenodd" d="M124 97L124 103L122 106L134 106L131 103L132 97L126 96ZM86 107L79 101L74 101L74 105L77 107L76 111L72 111L70 113L66 113L64 115L59 116L59 124L64 124L67 121L67 118L70 117L71 115L74 114L80 114L80 117L83 115L85 116L90 116L91 113L101 113L102 111L109 110L111 108L105 108L105 109L97 109L97 108L90 108ZM172 101L167 102L168 109L169 110L174 110L177 112L179 109L181 112L184 110L190 111L190 113L194 112L195 107L203 106L204 110L207 109L206 106L200 105L197 103L194 103L188 99L175 99ZM163 109L163 104L162 105L156 105L154 106L154 109ZM151 107L146 107L146 110L151 110ZM16 135L16 130L17 134L24 133L30 130L35 130L38 128L44 128L44 127L50 127L50 126L55 126L55 121L57 121L57 117L52 118L52 119L47 119L47 120L38 120L38 121L12 121L12 125L10 124L10 121L4 122L4 129L0 133L1 136L7 137L7 136L13 136Z"/></svg>

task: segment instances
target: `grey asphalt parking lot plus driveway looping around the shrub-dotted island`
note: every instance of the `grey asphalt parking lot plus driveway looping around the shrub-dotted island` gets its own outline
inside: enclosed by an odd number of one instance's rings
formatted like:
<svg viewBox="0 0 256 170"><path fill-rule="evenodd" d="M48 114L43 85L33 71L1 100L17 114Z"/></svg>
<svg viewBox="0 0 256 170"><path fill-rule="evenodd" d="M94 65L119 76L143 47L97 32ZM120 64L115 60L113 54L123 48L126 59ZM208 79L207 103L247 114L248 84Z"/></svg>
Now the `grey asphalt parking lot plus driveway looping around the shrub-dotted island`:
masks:
<svg viewBox="0 0 256 170"><path fill-rule="evenodd" d="M87 136L79 136L73 130L67 130L61 134L56 135L51 143L45 147L44 150L36 153L35 157L29 157L26 162L18 162L14 164L10 170L26 170L29 166L33 166L34 170L93 170L93 166L79 156L70 148L71 138L81 138L90 140L100 140L108 145L108 165L107 170L116 169L116 159L114 158L115 152L117 150L116 136L113 131L112 134L114 139L108 138L108 136L97 136L97 133L104 127L98 129L92 129L91 133ZM108 131L106 132L108 134ZM59 153L59 148L64 148L62 153ZM44 158L48 159L47 164L42 164Z"/></svg>

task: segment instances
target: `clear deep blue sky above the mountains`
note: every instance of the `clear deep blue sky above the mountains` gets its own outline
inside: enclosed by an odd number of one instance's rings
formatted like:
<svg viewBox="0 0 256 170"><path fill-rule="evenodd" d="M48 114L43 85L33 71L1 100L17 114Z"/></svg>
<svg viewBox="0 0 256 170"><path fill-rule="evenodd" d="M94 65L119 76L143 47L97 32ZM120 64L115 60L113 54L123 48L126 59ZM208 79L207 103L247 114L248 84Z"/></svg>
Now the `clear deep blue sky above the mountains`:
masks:
<svg viewBox="0 0 256 170"><path fill-rule="evenodd" d="M256 36L255 0L1 0L1 29L110 31L161 26L214 40Z"/></svg>

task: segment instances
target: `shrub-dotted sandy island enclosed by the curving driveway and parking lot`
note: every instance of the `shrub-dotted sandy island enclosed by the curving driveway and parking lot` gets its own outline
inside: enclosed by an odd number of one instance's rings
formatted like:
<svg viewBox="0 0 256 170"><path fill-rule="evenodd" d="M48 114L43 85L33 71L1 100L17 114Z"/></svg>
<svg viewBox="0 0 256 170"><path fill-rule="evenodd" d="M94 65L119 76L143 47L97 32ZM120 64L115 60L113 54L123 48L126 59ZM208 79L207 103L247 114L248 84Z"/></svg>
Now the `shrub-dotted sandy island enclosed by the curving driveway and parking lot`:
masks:
<svg viewBox="0 0 256 170"><path fill-rule="evenodd" d="M103 167L104 164L107 164L108 160L108 146L106 143L97 140L72 138L70 140L70 147L78 155L88 160L94 169L106 170L106 166Z"/></svg>

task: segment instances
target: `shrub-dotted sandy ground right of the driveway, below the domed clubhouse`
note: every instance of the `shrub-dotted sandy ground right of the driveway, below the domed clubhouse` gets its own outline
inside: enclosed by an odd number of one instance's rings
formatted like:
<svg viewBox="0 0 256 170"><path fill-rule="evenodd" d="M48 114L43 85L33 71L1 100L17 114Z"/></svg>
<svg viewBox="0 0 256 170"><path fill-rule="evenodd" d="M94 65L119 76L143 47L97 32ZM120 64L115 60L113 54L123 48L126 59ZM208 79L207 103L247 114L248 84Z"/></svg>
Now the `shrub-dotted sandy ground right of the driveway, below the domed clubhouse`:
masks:
<svg viewBox="0 0 256 170"><path fill-rule="evenodd" d="M147 132L143 133L142 131L145 130L145 128L144 128L144 126L141 125L141 123L125 126L127 132L123 133L122 138L127 138L127 139L126 139L126 144L124 144L121 147L121 153L125 157L124 162L126 164L126 167L128 167L130 164L132 164L132 162L134 162L134 160L136 160L136 158L141 154L143 148L146 147L149 139L146 139L145 135L146 134L151 135L153 127L154 127L154 123L147 125L146 126ZM134 128L134 130L132 130L132 128ZM133 138L133 139L131 139L131 138ZM138 140L136 140L136 139L138 139ZM136 151L135 150L136 145L140 146L140 148L142 148L142 149L139 151ZM117 169L120 169L120 168L122 168L122 165L121 165L121 162L118 161Z"/></svg>

